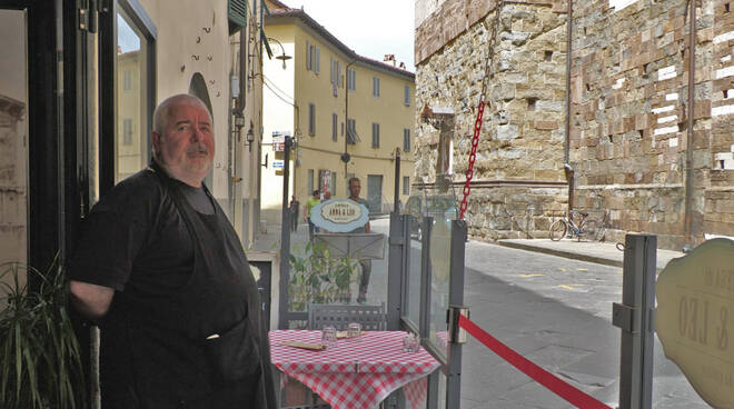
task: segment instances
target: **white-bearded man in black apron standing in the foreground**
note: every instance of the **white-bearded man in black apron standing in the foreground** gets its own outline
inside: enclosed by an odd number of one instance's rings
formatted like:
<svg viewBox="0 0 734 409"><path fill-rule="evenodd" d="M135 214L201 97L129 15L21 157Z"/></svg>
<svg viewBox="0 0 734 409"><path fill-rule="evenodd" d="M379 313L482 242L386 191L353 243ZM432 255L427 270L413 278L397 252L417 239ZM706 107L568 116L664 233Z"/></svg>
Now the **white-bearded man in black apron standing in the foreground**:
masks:
<svg viewBox="0 0 734 409"><path fill-rule="evenodd" d="M196 97L153 114L152 161L85 220L75 307L101 328L105 409L275 408L260 297L225 212L202 184L211 114Z"/></svg>

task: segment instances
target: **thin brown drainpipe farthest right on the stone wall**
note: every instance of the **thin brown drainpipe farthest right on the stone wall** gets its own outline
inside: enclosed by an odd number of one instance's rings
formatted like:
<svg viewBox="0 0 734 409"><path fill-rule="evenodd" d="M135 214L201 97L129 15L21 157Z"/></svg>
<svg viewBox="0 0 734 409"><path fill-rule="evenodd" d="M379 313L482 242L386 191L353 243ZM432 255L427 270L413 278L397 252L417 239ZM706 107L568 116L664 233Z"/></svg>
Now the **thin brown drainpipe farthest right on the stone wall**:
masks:
<svg viewBox="0 0 734 409"><path fill-rule="evenodd" d="M696 1L688 0L688 137L685 149L685 242L693 243L693 117L695 114Z"/></svg>

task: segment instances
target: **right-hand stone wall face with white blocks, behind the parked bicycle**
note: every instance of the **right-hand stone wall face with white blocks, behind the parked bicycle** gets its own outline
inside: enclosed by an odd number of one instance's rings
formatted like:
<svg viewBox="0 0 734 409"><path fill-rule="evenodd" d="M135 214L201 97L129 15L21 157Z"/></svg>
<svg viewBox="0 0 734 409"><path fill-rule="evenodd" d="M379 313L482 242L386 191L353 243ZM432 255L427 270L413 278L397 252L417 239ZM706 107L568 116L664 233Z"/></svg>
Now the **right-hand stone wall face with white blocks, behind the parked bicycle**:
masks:
<svg viewBox="0 0 734 409"><path fill-rule="evenodd" d="M726 68L732 66L726 32L734 19L726 3L696 2L695 110L688 143L688 1L637 1L619 11L605 1L574 2L574 201L577 208L609 210L614 240L644 231L658 235L663 248L681 248L690 241L686 194L692 241L734 236L734 163L728 162L734 139L725 108L734 107L726 101L726 90L734 88L734 72Z"/></svg>

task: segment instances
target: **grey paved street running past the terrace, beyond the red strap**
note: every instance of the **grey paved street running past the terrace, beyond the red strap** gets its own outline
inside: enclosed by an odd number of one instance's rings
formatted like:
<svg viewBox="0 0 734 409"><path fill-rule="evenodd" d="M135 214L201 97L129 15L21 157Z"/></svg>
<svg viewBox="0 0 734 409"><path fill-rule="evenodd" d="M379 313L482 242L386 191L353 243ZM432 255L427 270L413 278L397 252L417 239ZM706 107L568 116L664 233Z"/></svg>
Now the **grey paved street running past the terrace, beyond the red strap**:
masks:
<svg viewBox="0 0 734 409"><path fill-rule="evenodd" d="M388 219L373 220L371 226L387 233ZM305 226L299 230L294 242L302 247L308 233ZM269 233L270 240L279 238ZM387 258L374 262L368 302L385 301L386 286ZM465 303L472 320L611 407L618 401L619 370L619 329L612 326L612 302L621 300L621 291L619 267L467 243ZM653 407L707 408L662 351L656 342ZM472 337L463 367L463 409L571 407Z"/></svg>

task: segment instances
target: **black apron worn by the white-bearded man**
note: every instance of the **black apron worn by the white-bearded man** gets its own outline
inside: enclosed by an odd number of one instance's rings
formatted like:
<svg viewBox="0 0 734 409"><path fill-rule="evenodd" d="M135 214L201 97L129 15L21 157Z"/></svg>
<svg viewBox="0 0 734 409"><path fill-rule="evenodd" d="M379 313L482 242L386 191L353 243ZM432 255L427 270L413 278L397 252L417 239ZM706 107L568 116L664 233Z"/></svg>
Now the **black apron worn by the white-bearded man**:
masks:
<svg viewBox="0 0 734 409"><path fill-rule="evenodd" d="M102 323L102 409L275 408L257 283L221 208L197 212L151 166L191 238L181 288L116 293ZM151 249L155 251L155 249Z"/></svg>

